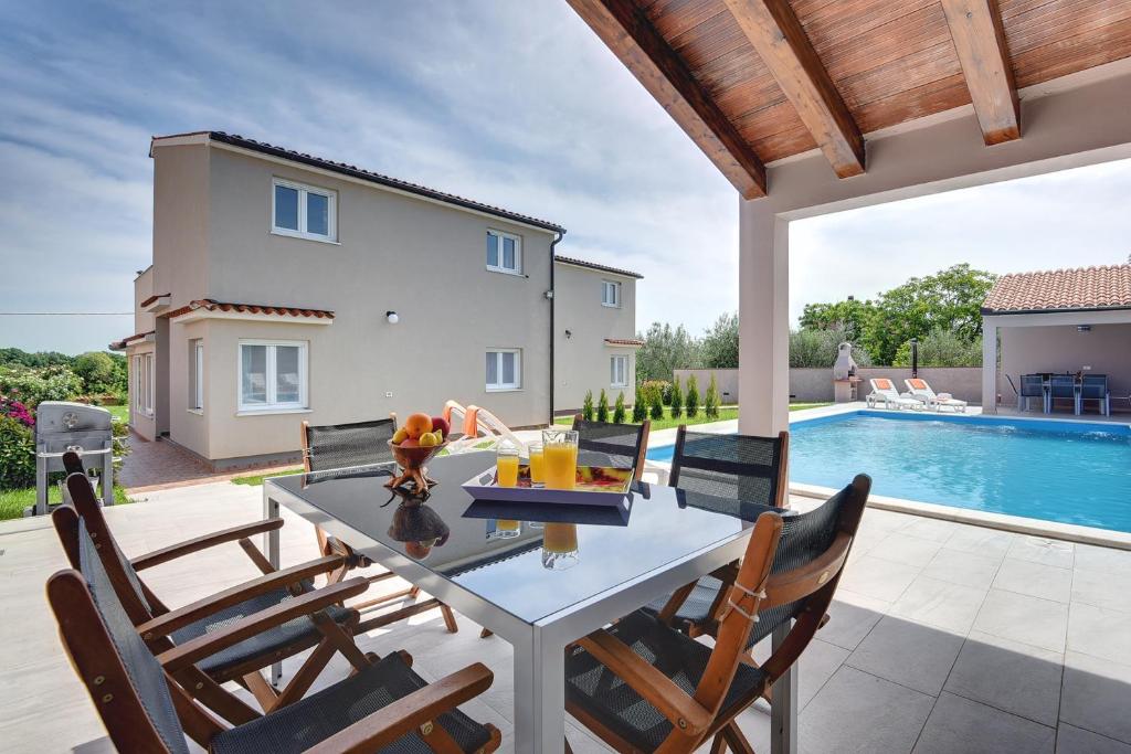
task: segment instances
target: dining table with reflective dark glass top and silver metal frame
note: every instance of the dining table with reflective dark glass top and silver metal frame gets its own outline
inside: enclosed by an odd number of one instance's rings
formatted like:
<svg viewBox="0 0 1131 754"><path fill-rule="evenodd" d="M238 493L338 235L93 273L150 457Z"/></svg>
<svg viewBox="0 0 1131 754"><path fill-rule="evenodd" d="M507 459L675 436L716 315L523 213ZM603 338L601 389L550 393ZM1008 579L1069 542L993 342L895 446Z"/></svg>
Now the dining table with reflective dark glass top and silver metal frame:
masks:
<svg viewBox="0 0 1131 754"><path fill-rule="evenodd" d="M567 644L741 558L754 519L771 509L644 483L620 506L476 501L461 485L494 458L432 459L439 484L425 500L385 486L391 463L269 478L264 515L286 508L508 641L515 751L561 752ZM599 459L582 452L579 462ZM278 567L278 530L265 536ZM566 569L554 557L562 540L572 551ZM787 631L775 633L775 643ZM771 748L795 751L792 674L772 699Z"/></svg>

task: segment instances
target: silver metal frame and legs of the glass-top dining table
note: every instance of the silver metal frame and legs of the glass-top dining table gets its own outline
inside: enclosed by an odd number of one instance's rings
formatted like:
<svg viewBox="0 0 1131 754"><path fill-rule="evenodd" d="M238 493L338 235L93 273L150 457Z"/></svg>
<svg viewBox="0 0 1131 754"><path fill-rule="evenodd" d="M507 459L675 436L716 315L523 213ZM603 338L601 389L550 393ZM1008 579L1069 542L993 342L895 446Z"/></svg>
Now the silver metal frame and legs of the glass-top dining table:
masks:
<svg viewBox="0 0 1131 754"><path fill-rule="evenodd" d="M322 527L331 536L348 541L374 563L420 587L511 644L515 652L515 751L524 754L558 754L564 751L566 647L570 642L741 558L751 531L746 529L723 543L688 553L665 567L594 595L532 624L415 563L364 531L333 518L271 479L265 479L264 518L277 517L280 505ZM279 531L273 529L264 537L267 557L273 566L278 567ZM775 649L788 631L789 624L786 624L774 632L771 641ZM282 666L277 664L271 669L271 681L277 682L280 675ZM796 710L796 669L791 668L774 685L770 712L772 754L795 754Z"/></svg>

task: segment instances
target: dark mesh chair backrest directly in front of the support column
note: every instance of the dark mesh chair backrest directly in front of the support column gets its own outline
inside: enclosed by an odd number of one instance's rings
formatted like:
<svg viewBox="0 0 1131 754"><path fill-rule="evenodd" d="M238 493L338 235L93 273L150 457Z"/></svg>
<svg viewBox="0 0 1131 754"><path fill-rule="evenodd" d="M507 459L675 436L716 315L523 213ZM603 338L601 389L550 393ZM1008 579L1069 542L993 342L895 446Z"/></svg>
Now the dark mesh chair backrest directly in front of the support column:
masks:
<svg viewBox="0 0 1131 754"><path fill-rule="evenodd" d="M688 432L680 425L668 484L680 489L782 508L789 433L776 437Z"/></svg>

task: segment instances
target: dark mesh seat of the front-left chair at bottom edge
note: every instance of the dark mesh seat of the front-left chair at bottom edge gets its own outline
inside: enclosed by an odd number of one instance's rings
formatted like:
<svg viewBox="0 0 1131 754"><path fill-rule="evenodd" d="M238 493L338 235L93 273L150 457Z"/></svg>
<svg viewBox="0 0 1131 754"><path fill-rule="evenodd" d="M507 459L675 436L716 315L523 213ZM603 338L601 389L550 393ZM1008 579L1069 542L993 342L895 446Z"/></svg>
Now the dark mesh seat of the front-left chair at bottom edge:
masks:
<svg viewBox="0 0 1131 754"><path fill-rule="evenodd" d="M266 717L225 730L211 740L211 751L216 754L296 754L426 685L428 682L416 675L399 653L394 652L357 675ZM491 739L486 728L459 710L444 712L437 721L465 752L474 752ZM415 733L381 752L432 754L432 749Z"/></svg>

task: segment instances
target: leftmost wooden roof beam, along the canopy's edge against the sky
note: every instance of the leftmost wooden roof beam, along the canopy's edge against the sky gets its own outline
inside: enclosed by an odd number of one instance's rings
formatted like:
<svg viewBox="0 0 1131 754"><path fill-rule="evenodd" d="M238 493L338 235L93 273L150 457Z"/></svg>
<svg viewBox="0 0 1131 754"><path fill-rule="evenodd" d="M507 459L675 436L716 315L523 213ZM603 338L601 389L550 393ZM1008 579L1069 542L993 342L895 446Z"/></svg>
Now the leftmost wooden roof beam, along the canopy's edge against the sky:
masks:
<svg viewBox="0 0 1131 754"><path fill-rule="evenodd" d="M766 166L632 0L568 0L746 199L766 196Z"/></svg>

